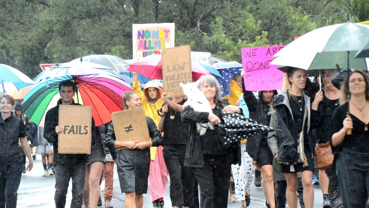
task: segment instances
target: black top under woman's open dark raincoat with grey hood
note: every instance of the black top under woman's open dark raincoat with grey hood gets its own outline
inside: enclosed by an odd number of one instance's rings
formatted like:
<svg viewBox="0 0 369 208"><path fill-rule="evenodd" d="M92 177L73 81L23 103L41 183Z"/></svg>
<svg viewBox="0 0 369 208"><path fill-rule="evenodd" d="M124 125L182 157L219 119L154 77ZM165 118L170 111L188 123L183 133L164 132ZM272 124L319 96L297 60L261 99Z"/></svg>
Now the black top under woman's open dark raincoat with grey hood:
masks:
<svg viewBox="0 0 369 208"><path fill-rule="evenodd" d="M296 125L297 134L300 134L302 130L302 124L304 119L304 112L305 112L305 101L303 96L294 96L296 100L293 98L294 95L289 95L288 100L290 103L290 107L292 110L293 120ZM301 101L301 102L299 102ZM299 103L299 104L297 104ZM304 124L304 144L307 144L307 115Z"/></svg>

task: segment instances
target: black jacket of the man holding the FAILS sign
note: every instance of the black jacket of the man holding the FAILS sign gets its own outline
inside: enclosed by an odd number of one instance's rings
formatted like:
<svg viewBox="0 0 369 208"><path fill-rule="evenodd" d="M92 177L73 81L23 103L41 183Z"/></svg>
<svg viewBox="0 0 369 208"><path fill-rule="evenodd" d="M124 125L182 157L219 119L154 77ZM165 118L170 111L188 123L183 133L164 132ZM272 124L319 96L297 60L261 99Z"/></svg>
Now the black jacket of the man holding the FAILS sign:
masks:
<svg viewBox="0 0 369 208"><path fill-rule="evenodd" d="M58 126L59 123L59 105L62 103L62 100L58 100L58 103L54 108L51 108L47 111L45 116L45 128L44 128L44 137L49 143L53 143L54 145L54 161L53 165L64 165L64 164L75 164L77 162L88 162L87 154L59 154L58 152L58 134L56 134L55 127ZM80 105L78 103L73 103L71 105ZM91 125L91 146L95 143L96 139L96 129L95 122L92 118Z"/></svg>

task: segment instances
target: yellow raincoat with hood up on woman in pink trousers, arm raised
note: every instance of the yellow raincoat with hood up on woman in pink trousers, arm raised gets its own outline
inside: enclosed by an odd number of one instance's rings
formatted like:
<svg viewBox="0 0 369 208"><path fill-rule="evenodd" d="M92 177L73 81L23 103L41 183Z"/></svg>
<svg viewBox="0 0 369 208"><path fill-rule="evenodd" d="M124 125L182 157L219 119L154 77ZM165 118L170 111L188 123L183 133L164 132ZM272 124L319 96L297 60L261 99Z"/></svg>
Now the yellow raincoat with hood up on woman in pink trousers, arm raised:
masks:
<svg viewBox="0 0 369 208"><path fill-rule="evenodd" d="M146 87L144 89L144 91L141 90L141 85L138 82L133 81L133 91L135 93L138 93L139 96L141 97L141 106L144 108L145 110L145 115L147 117L152 118L152 120L154 120L156 127L158 127L158 123L159 123L159 115L157 113L157 111L162 107L163 105L163 99L161 98L162 95L162 91L161 89L154 84L153 81L149 81L146 84ZM149 101L146 98L146 91L148 90L149 87L155 87L159 89L159 94L156 95L156 98L158 98L158 100L156 100L156 102L154 104L149 103ZM151 160L155 160L155 154L156 154L156 149L157 147L150 147L150 156L151 156Z"/></svg>

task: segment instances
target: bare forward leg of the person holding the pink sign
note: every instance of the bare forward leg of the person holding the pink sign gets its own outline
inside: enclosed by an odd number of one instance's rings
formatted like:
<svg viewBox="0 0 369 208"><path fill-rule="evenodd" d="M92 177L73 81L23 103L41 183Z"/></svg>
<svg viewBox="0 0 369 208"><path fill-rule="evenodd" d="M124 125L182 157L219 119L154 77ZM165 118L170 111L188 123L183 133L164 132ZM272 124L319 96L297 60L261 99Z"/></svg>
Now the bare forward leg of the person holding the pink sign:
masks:
<svg viewBox="0 0 369 208"><path fill-rule="evenodd" d="M261 173L263 174L262 186L264 189L265 197L268 199L268 204L270 205L270 207L275 207L273 166L263 165L261 167Z"/></svg>

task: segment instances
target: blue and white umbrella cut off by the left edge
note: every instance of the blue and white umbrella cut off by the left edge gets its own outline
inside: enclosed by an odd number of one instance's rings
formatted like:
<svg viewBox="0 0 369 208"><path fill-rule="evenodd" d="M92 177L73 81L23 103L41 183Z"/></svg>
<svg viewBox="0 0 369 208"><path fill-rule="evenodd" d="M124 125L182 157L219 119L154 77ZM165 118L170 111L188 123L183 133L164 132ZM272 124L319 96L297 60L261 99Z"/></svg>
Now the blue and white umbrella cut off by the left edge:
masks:
<svg viewBox="0 0 369 208"><path fill-rule="evenodd" d="M19 70L5 64L0 64L0 74L0 92L17 91L23 87L36 84Z"/></svg>

